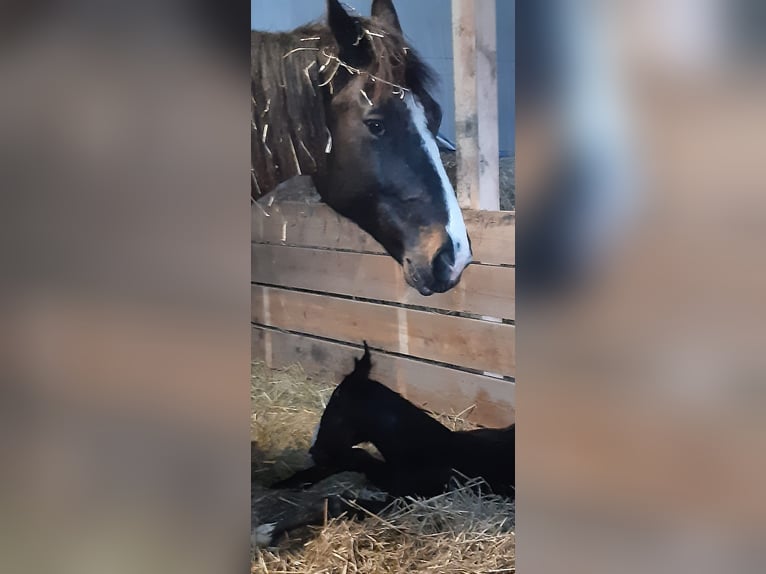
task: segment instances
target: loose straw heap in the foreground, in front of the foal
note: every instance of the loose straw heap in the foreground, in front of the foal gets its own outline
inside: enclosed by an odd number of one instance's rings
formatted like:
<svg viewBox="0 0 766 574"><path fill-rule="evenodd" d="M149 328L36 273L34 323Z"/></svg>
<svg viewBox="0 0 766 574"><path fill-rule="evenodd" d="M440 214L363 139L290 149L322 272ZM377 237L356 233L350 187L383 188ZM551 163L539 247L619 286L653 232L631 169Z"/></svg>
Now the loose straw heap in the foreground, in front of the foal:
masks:
<svg viewBox="0 0 766 574"><path fill-rule="evenodd" d="M379 516L337 518L303 547L255 551L253 572L515 572L514 504L471 484L398 500Z"/></svg>

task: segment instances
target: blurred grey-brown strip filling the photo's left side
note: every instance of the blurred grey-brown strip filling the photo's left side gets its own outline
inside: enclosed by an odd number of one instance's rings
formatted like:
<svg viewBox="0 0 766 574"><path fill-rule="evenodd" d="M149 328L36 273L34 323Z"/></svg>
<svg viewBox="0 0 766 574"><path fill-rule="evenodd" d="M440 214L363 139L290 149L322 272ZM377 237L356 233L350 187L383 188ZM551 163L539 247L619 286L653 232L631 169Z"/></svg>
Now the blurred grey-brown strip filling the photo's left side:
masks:
<svg viewBox="0 0 766 574"><path fill-rule="evenodd" d="M249 545L247 2L4 2L0 570Z"/></svg>

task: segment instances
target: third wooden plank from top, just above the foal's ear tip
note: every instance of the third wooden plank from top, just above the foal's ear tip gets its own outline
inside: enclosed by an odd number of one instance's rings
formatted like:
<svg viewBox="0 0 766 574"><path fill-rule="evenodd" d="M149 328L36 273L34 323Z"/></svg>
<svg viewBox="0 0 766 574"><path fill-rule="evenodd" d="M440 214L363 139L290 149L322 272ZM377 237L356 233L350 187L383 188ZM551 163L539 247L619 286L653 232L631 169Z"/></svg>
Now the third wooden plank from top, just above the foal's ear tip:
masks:
<svg viewBox="0 0 766 574"><path fill-rule="evenodd" d="M354 341L385 351L504 376L515 370L514 326L252 286L254 323Z"/></svg>

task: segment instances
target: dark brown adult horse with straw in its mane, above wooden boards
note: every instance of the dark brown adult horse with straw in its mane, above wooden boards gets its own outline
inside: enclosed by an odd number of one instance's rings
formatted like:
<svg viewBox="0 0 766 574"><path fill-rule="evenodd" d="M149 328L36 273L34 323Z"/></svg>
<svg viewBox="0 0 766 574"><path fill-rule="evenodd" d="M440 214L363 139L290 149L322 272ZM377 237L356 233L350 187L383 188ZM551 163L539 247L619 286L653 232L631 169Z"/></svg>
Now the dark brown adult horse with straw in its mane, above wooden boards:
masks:
<svg viewBox="0 0 766 574"><path fill-rule="evenodd" d="M252 32L252 194L299 174L370 233L421 294L451 289L471 247L439 158L431 70L391 0L372 17L327 2L327 23Z"/></svg>

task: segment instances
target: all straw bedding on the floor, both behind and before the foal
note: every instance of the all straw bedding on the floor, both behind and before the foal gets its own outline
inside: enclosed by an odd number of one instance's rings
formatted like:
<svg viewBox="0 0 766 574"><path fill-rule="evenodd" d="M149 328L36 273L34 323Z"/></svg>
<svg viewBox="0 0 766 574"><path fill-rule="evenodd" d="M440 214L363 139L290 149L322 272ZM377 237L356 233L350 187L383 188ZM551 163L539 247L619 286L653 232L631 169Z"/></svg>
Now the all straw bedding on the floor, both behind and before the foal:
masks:
<svg viewBox="0 0 766 574"><path fill-rule="evenodd" d="M337 381L310 380L300 367L252 369L254 487L306 465L306 451ZM460 413L438 417L473 428ZM344 516L310 527L277 548L253 548L258 574L515 572L515 506L481 494L480 480L429 499L399 499L364 521Z"/></svg>

